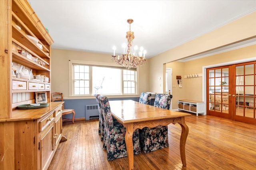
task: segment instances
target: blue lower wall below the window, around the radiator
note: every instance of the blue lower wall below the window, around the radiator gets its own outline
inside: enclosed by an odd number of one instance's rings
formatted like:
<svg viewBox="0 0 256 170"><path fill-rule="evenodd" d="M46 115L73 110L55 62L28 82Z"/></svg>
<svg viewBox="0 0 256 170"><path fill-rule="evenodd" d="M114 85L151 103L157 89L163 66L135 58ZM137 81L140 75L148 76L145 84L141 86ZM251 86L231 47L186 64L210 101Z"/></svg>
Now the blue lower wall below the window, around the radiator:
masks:
<svg viewBox="0 0 256 170"><path fill-rule="evenodd" d="M108 100L134 100L139 102L140 98L108 98ZM70 99L64 100L64 109L74 109L76 112L76 118L85 118L85 106L97 104L95 99ZM110 106L111 107L111 106ZM72 114L65 115L65 118L72 119Z"/></svg>

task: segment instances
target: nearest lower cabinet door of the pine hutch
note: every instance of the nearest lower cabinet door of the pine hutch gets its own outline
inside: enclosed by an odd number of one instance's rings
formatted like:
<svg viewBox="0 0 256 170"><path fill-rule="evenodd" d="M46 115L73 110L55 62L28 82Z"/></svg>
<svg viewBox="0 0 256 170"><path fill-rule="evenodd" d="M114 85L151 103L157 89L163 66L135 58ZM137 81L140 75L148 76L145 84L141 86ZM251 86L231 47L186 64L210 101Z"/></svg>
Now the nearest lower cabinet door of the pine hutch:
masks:
<svg viewBox="0 0 256 170"><path fill-rule="evenodd" d="M54 122L40 136L40 170L45 170L50 164L50 157L54 153Z"/></svg>

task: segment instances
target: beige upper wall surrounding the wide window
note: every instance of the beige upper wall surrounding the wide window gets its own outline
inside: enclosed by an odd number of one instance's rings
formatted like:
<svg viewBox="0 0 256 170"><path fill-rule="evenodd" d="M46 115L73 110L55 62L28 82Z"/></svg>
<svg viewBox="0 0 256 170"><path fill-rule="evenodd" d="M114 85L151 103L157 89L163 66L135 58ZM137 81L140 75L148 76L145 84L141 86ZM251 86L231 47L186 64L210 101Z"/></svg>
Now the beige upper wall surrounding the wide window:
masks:
<svg viewBox="0 0 256 170"><path fill-rule="evenodd" d="M94 61L100 63L114 63L111 55L88 53L82 51L70 51L52 49L51 60L51 92L62 92L64 98L68 98L68 60ZM139 67L138 70L138 94L149 90L149 65ZM124 97L124 96L123 96ZM90 98L90 97L87 97ZM93 96L94 98L94 96Z"/></svg>

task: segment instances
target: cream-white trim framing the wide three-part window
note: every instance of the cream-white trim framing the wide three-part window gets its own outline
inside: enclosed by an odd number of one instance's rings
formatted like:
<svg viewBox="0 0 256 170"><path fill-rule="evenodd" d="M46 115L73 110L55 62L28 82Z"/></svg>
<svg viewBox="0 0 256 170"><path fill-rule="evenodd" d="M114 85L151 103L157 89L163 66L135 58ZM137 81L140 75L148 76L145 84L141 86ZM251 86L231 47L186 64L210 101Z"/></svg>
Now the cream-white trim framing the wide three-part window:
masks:
<svg viewBox="0 0 256 170"><path fill-rule="evenodd" d="M102 62L93 62L93 61L79 61L79 60L68 60L68 97L69 98L95 98L93 95L83 95L83 96L74 96L74 88L72 84L72 72L74 71L72 65L73 64L84 64L84 65L91 65L91 66L112 66L112 67L119 67L124 68L122 66L117 65L116 63L102 63ZM109 95L112 97L137 97L138 96L138 70L136 70L136 76L135 76L135 94L122 94L122 95ZM90 70L91 71L91 70ZM92 80L91 74L90 74L90 80ZM123 80L122 80L122 88L121 92L123 93ZM92 88L92 87L90 87ZM90 89L91 92L91 89ZM111 98L111 97L110 97Z"/></svg>

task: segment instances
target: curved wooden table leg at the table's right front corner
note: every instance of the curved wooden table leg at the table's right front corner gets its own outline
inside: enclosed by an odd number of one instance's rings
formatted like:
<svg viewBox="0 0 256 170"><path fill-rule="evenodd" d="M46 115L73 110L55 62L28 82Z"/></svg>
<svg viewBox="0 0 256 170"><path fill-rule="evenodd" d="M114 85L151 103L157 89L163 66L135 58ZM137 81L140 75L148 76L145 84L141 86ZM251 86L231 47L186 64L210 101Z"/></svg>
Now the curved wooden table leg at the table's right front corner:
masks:
<svg viewBox="0 0 256 170"><path fill-rule="evenodd" d="M185 145L186 145L186 140L188 137L188 126L185 123L185 117L181 117L181 122L178 122L181 126L181 135L180 135L180 157L181 157L181 162L184 166L186 166L186 153L185 153Z"/></svg>

